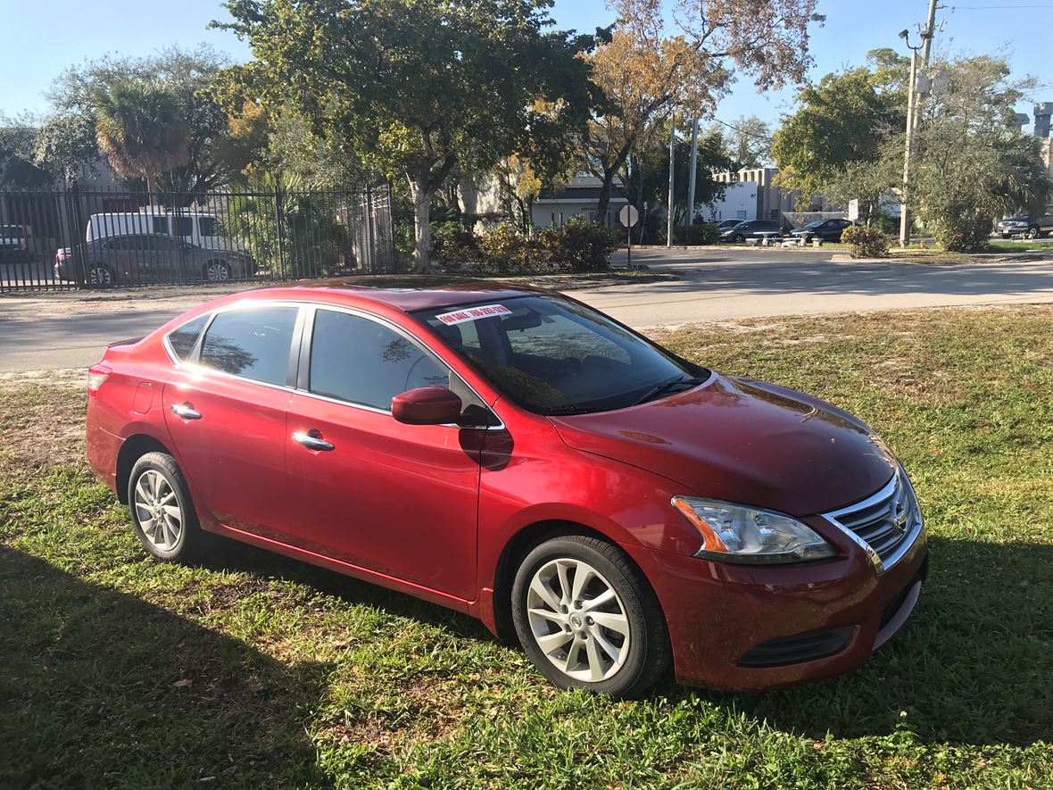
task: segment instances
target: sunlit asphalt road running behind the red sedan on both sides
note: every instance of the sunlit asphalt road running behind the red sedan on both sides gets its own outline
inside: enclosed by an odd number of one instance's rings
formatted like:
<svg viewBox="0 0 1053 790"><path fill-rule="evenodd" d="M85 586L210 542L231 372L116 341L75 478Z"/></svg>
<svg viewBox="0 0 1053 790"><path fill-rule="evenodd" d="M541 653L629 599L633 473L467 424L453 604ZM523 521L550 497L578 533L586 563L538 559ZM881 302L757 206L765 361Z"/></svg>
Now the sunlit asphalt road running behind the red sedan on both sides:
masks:
<svg viewBox="0 0 1053 790"><path fill-rule="evenodd" d="M617 260L616 260L617 262ZM834 263L821 251L640 251L633 262L679 279L575 291L637 328L747 317L958 304L1053 302L1053 260L919 265ZM0 373L86 368L107 342L142 335L215 290L104 299L0 297Z"/></svg>

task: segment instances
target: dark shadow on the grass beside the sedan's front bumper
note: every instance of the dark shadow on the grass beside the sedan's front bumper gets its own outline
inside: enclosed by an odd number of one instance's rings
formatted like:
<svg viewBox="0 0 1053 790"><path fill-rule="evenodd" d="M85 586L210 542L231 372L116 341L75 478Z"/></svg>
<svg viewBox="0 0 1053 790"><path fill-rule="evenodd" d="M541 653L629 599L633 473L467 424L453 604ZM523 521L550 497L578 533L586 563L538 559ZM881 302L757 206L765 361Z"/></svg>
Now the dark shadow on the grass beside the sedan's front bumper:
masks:
<svg viewBox="0 0 1053 790"><path fill-rule="evenodd" d="M897 729L925 743L1053 739L1053 546L933 536L929 546L917 609L857 671L767 693L662 691L816 739Z"/></svg>

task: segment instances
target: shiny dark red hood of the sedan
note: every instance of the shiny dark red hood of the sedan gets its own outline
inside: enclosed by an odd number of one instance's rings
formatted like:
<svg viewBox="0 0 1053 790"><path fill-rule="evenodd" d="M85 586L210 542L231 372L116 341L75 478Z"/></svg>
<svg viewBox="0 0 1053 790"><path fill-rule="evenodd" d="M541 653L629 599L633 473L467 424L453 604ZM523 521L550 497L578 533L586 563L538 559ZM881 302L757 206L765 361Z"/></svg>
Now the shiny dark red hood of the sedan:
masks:
<svg viewBox="0 0 1053 790"><path fill-rule="evenodd" d="M707 384L649 403L551 419L570 447L660 474L684 494L795 516L870 496L897 463L846 412L716 373Z"/></svg>

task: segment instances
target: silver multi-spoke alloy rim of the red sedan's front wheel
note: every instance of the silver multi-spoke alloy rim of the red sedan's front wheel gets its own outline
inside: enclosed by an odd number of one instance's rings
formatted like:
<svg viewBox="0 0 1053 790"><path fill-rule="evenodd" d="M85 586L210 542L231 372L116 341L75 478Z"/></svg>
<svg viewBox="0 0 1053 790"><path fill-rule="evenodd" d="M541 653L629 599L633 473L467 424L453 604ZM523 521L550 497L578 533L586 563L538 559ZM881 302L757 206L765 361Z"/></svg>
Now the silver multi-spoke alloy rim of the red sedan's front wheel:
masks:
<svg viewBox="0 0 1053 790"><path fill-rule="evenodd" d="M565 557L541 566L526 590L526 615L538 648L569 677L599 683L625 663L625 607L588 562Z"/></svg>

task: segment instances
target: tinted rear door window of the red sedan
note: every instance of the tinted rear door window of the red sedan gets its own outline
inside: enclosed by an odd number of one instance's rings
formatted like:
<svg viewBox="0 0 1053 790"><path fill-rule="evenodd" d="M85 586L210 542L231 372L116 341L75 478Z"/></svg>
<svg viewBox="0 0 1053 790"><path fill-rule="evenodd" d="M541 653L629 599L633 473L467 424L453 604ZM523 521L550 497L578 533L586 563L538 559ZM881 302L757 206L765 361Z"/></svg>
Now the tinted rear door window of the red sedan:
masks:
<svg viewBox="0 0 1053 790"><path fill-rule="evenodd" d="M274 307L220 313L208 327L201 363L270 384L283 384L296 308Z"/></svg>

